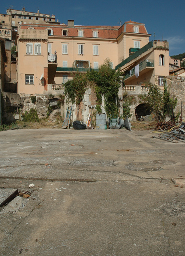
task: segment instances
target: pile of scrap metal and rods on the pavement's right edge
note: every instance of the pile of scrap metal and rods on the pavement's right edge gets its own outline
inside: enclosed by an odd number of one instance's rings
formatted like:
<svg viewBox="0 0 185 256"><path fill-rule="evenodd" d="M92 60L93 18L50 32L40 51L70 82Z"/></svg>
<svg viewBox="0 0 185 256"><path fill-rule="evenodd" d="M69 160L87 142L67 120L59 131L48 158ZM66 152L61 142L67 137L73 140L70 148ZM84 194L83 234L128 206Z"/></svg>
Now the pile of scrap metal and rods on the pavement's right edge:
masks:
<svg viewBox="0 0 185 256"><path fill-rule="evenodd" d="M172 119L168 122L159 122L153 132L158 134L158 137L152 136L153 138L172 143L185 143L185 122L179 123Z"/></svg>

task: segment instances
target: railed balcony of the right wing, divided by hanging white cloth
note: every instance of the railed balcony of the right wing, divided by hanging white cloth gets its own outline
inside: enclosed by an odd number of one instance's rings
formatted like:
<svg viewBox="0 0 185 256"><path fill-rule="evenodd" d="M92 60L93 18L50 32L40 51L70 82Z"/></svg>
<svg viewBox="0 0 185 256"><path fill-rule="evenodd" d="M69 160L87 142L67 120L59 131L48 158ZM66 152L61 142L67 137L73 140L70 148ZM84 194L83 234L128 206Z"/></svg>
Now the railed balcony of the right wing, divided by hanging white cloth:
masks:
<svg viewBox="0 0 185 256"><path fill-rule="evenodd" d="M144 74L151 69L154 69L154 60L153 59L146 59L139 64L139 74ZM131 70L128 70L125 73L124 81L126 79L128 79L128 80L134 79L135 78L134 75L135 75L135 68L133 67Z"/></svg>

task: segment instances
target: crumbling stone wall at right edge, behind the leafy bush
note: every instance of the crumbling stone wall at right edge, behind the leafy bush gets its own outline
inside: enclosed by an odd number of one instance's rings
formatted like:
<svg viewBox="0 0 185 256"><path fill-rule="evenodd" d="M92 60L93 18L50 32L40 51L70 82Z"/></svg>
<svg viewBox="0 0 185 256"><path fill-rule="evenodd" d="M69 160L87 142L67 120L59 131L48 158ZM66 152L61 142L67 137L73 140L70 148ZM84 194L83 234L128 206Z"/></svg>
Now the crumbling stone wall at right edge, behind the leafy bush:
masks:
<svg viewBox="0 0 185 256"><path fill-rule="evenodd" d="M181 112L182 117L185 118L185 77L181 76L167 76L167 86L170 89L171 95L177 98L177 105L175 107L175 115Z"/></svg>

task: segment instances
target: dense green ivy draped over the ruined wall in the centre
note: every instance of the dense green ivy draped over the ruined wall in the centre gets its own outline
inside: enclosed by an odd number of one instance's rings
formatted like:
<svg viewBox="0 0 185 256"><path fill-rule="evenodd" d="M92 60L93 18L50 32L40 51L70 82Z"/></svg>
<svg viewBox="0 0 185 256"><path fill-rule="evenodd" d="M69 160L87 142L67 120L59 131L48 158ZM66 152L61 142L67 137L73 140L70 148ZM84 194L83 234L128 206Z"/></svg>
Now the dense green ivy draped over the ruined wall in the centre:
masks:
<svg viewBox="0 0 185 256"><path fill-rule="evenodd" d="M120 70L117 72L111 68L109 59L99 69L91 69L86 74L77 72L73 80L65 83L65 95L67 101L80 106L83 96L88 87L95 90L97 96L96 110L101 113L102 96L105 98L105 111L108 116L118 115L119 102L118 91L120 87Z"/></svg>

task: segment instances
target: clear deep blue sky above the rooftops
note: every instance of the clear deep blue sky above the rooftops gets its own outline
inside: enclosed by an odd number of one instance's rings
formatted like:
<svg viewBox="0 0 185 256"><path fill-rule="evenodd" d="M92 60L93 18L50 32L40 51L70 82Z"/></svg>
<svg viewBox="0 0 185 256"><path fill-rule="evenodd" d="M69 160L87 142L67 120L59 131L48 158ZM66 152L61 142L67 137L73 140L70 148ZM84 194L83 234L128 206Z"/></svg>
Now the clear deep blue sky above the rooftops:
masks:
<svg viewBox="0 0 185 256"><path fill-rule="evenodd" d="M119 25L132 20L144 23L150 40L167 40L169 55L185 52L185 0L7 0L0 13L12 7L43 14L54 14L56 20L75 25Z"/></svg>

